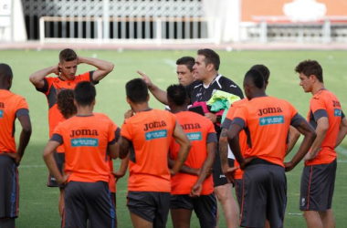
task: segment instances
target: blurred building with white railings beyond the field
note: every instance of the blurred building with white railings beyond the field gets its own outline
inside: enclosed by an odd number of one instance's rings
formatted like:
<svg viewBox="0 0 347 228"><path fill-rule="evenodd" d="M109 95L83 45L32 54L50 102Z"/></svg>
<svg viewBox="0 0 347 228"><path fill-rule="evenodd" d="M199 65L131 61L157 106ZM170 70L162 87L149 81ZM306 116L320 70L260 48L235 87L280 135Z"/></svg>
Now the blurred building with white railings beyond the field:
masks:
<svg viewBox="0 0 347 228"><path fill-rule="evenodd" d="M0 40L347 42L347 0L1 0L9 12Z"/></svg>

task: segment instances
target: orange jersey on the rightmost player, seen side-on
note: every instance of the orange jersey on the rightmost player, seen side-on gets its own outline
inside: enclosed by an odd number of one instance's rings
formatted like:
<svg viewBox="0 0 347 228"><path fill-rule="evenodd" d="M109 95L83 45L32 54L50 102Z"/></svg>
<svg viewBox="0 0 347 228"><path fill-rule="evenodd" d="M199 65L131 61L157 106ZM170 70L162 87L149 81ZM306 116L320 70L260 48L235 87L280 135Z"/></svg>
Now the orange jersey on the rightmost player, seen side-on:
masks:
<svg viewBox="0 0 347 228"><path fill-rule="evenodd" d="M316 129L317 121L322 117L328 118L329 129L316 158L306 161L306 165L331 163L337 157L334 149L342 120L342 107L339 99L327 89L321 89L310 99L308 114L310 125Z"/></svg>

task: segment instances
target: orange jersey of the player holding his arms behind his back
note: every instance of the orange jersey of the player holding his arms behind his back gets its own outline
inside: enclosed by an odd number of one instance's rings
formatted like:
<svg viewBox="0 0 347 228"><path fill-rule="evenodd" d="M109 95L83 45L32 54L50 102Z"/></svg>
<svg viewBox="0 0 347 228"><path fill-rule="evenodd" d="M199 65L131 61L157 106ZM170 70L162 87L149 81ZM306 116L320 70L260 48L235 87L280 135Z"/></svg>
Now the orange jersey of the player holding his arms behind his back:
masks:
<svg viewBox="0 0 347 228"><path fill-rule="evenodd" d="M195 169L202 168L207 158L206 144L209 142L217 142L214 124L212 121L192 111L181 111L174 115L192 143L192 148L189 151L184 165ZM179 149L180 144L172 140L170 157L174 161L177 159ZM178 172L171 179L171 194L189 194L197 178L197 176ZM212 192L214 192L214 181L212 175L210 175L203 183L203 191L201 194L207 195Z"/></svg>

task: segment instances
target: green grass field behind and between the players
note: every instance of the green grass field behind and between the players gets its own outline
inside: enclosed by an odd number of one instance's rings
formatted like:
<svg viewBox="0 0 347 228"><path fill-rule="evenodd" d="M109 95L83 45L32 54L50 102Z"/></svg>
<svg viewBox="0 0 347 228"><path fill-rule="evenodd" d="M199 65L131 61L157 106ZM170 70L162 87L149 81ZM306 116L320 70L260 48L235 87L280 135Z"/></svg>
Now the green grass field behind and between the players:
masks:
<svg viewBox="0 0 347 228"><path fill-rule="evenodd" d="M131 78L139 77L136 70L147 73L160 88L177 83L175 60L178 57L193 56L195 51L78 51L80 56L107 59L115 64L113 72L97 86L97 104L95 111L104 112L121 127L123 113L129 109L125 101L125 83ZM307 115L310 94L305 94L299 86L299 77L294 67L304 59L316 59L324 71L325 86L331 89L347 108L347 64L343 51L218 51L221 57L219 72L233 79L242 86L243 77L249 67L264 64L271 71L268 95L289 100L304 117ZM33 125L31 141L26 155L19 167L20 176L20 214L16 220L19 228L54 228L59 227L58 189L47 188L47 168L42 159L42 151L48 140L47 99L31 85L29 75L41 68L58 64L58 51L1 51L0 62L9 64L14 71L12 91L24 96L29 104ZM93 67L80 65L78 72L92 70ZM150 99L152 108L163 109L163 105ZM20 126L16 124L16 139ZM295 148L296 149L296 148ZM295 152L292 151L292 153ZM347 142L338 148L338 171L332 209L335 214L336 227L346 227L347 223ZM290 155L289 155L290 157ZM115 169L119 161L114 161ZM306 227L300 212L300 174L302 163L287 173L288 207L285 227ZM131 220L125 196L127 177L117 183L117 215L119 227L131 227ZM167 223L172 227L171 220ZM221 214L219 227L225 227ZM192 226L199 227L195 215Z"/></svg>

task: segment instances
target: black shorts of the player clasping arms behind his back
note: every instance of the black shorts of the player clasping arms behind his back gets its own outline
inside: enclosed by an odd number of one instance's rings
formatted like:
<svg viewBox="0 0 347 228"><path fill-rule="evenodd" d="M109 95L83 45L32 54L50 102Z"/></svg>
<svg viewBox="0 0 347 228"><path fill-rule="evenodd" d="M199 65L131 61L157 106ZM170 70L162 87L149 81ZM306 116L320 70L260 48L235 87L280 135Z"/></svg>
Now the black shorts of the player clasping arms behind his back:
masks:
<svg viewBox="0 0 347 228"><path fill-rule="evenodd" d="M170 209L194 210L199 219L200 227L216 227L216 195L201 195L190 197L188 194L172 195Z"/></svg>

